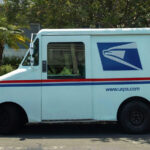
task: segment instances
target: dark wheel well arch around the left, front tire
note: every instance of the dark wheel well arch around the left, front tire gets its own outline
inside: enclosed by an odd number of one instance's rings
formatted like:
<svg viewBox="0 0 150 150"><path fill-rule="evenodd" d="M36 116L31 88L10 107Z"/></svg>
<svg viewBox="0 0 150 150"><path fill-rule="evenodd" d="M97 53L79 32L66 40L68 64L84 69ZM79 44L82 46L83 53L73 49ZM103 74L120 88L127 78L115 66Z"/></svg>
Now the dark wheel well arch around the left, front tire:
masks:
<svg viewBox="0 0 150 150"><path fill-rule="evenodd" d="M13 102L4 102L0 104L0 107L4 107L4 106L11 106L11 107L15 107L16 109L18 109L19 114L21 115L21 121L23 124L28 123L28 117L27 114L25 112L25 110L18 104L13 103Z"/></svg>

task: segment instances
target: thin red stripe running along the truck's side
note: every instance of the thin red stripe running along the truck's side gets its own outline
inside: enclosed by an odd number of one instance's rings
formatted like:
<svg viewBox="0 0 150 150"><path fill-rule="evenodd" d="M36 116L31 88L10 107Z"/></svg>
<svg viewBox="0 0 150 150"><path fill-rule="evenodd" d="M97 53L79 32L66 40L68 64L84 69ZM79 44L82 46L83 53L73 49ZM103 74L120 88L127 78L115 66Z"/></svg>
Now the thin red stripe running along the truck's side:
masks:
<svg viewBox="0 0 150 150"><path fill-rule="evenodd" d="M41 83L41 82L96 82L96 81L139 81L150 80L150 77L143 78L101 78L101 79L49 79L49 80L9 80L0 83Z"/></svg>

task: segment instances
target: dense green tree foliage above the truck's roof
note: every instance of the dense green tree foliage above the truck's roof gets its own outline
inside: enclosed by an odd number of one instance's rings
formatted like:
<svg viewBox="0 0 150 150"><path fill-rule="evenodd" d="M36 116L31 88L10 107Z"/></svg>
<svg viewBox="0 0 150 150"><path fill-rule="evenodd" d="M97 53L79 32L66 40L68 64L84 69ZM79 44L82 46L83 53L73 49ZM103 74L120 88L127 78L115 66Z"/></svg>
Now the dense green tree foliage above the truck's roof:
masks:
<svg viewBox="0 0 150 150"><path fill-rule="evenodd" d="M43 28L148 27L150 0L5 0L8 20Z"/></svg>

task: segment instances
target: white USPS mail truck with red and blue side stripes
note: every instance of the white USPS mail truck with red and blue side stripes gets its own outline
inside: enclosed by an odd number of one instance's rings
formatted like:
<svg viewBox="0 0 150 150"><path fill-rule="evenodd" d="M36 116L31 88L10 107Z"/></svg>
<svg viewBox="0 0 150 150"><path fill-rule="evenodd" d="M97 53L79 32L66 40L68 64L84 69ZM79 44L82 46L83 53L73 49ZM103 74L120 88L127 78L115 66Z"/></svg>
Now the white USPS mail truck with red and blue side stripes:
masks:
<svg viewBox="0 0 150 150"><path fill-rule="evenodd" d="M39 31L19 68L0 77L0 132L67 121L150 129L150 28Z"/></svg>

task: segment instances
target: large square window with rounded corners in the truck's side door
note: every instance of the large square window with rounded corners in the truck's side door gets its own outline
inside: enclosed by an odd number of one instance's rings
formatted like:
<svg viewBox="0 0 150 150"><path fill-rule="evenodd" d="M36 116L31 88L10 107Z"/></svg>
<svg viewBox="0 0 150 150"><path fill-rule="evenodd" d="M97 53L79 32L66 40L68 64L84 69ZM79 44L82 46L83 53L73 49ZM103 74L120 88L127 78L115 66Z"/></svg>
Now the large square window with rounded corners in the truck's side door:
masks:
<svg viewBox="0 0 150 150"><path fill-rule="evenodd" d="M85 46L82 42L49 43L48 79L85 78Z"/></svg>

